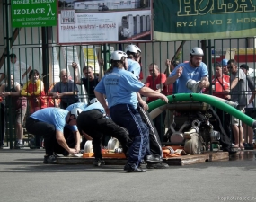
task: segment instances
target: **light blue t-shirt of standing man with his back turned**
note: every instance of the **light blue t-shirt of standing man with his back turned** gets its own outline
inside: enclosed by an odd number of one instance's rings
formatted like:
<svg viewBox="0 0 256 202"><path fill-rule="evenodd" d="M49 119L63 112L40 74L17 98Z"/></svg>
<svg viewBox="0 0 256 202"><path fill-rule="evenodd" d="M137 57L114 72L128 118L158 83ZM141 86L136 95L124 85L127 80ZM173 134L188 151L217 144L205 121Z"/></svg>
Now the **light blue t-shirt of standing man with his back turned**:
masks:
<svg viewBox="0 0 256 202"><path fill-rule="evenodd" d="M144 83L125 69L113 68L96 86L95 91L105 94L109 108L118 104L130 104L137 108L137 93L144 87Z"/></svg>

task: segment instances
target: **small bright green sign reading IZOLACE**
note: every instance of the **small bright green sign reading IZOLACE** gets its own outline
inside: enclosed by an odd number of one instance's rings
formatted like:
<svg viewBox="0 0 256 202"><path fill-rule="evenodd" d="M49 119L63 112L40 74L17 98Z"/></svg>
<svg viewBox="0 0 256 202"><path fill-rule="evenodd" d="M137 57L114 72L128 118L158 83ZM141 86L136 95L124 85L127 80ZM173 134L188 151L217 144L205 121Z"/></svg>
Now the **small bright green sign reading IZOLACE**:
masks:
<svg viewBox="0 0 256 202"><path fill-rule="evenodd" d="M57 0L12 0L13 27L57 25Z"/></svg>

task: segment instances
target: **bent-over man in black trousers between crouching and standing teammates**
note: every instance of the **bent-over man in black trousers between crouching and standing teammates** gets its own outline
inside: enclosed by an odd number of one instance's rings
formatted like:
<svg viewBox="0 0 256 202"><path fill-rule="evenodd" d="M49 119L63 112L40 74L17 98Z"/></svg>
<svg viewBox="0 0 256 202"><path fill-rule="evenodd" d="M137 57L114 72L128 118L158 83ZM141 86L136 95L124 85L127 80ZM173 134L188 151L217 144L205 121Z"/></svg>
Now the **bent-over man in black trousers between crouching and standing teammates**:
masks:
<svg viewBox="0 0 256 202"><path fill-rule="evenodd" d="M86 133L93 138L94 166L105 164L102 160L102 134L117 138L124 154L127 154L128 131L106 116L100 102L95 102L83 110L77 119L77 127L81 134Z"/></svg>

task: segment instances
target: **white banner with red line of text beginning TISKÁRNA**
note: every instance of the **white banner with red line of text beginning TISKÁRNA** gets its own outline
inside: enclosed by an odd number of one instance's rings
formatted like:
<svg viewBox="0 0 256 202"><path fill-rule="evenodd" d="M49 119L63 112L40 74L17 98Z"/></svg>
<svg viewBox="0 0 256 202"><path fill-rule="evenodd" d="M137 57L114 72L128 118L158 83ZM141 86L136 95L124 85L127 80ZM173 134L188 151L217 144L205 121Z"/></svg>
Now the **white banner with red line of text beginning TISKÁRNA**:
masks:
<svg viewBox="0 0 256 202"><path fill-rule="evenodd" d="M150 10L75 13L72 22L67 15L58 16L60 44L151 40Z"/></svg>

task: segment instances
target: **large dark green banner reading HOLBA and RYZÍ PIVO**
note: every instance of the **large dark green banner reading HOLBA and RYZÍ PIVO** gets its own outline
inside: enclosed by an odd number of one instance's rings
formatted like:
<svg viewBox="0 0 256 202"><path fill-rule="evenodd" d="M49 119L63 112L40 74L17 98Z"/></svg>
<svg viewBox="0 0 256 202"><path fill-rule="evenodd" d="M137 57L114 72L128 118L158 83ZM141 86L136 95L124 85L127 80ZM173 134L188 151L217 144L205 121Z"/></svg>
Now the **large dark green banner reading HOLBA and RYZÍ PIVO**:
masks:
<svg viewBox="0 0 256 202"><path fill-rule="evenodd" d="M154 1L155 40L208 40L252 37L256 33L256 1Z"/></svg>

